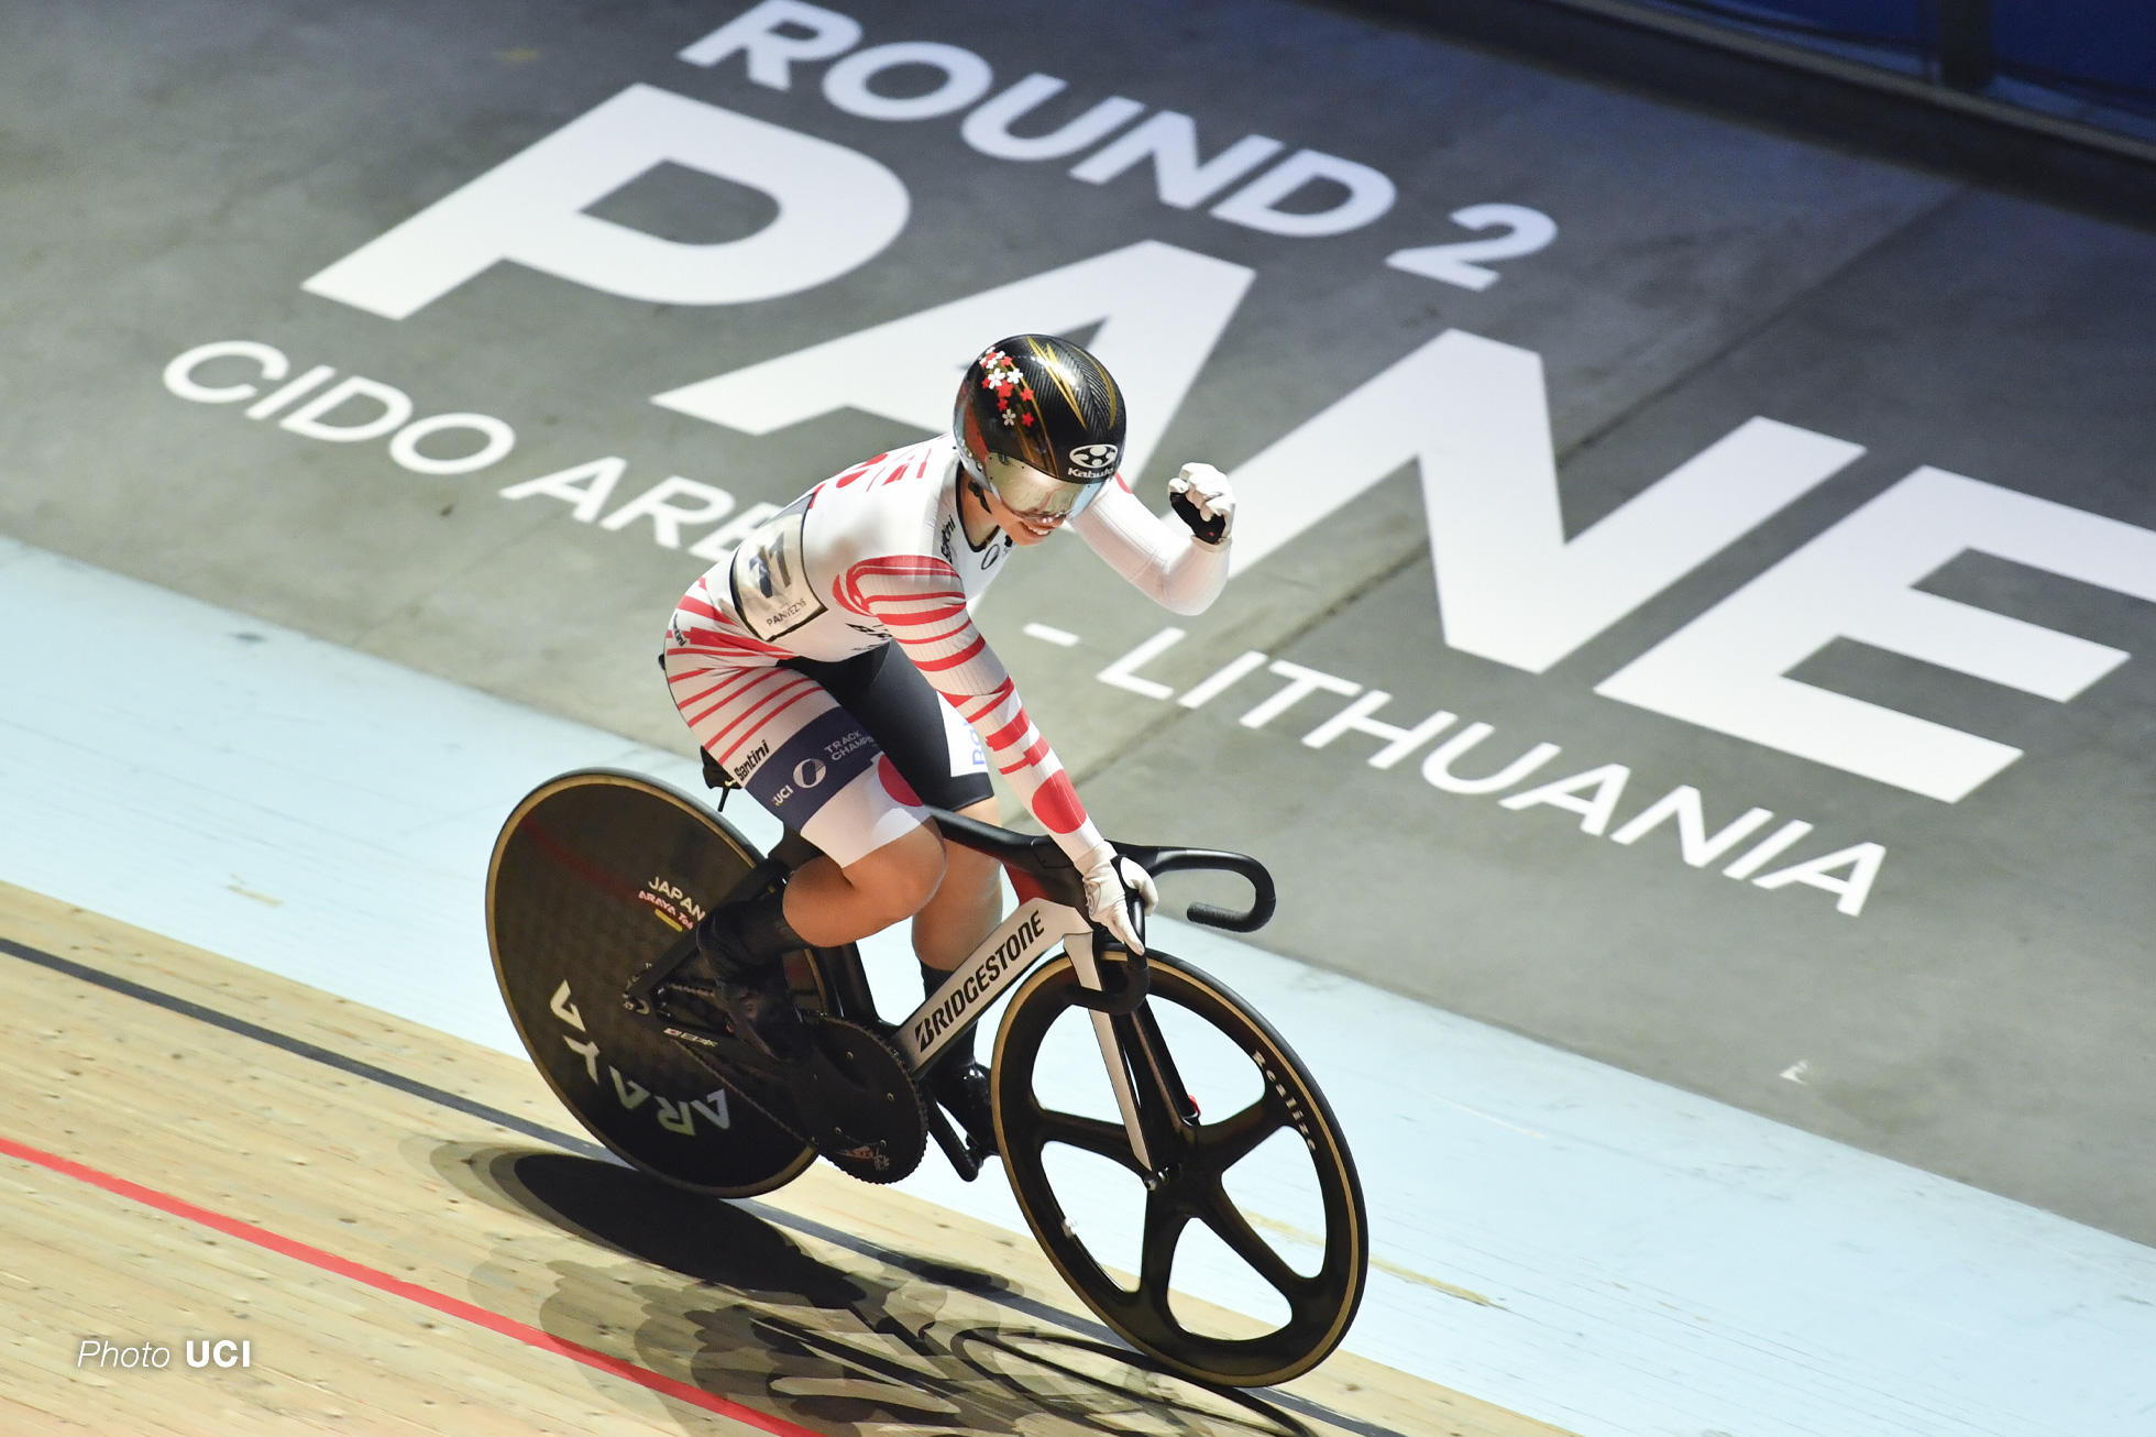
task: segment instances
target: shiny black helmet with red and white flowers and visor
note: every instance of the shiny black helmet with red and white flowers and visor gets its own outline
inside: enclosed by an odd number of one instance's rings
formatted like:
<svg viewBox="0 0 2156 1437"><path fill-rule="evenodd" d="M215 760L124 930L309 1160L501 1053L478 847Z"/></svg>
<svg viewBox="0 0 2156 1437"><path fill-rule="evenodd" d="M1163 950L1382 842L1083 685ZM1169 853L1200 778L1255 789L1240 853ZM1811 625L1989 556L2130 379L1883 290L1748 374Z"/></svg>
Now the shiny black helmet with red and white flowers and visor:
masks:
<svg viewBox="0 0 2156 1437"><path fill-rule="evenodd" d="M1078 345L1013 334L966 367L951 436L975 483L1028 518L1072 518L1123 457L1123 391Z"/></svg>

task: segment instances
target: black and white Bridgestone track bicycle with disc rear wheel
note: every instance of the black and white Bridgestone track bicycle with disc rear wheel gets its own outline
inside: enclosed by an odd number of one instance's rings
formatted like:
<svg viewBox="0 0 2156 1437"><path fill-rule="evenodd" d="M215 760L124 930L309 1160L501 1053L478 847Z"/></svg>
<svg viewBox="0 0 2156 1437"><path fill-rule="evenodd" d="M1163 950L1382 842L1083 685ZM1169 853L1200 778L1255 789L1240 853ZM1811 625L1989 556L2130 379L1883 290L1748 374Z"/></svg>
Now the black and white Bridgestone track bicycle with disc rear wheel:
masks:
<svg viewBox="0 0 2156 1437"><path fill-rule="evenodd" d="M776 1064L733 1036L692 930L707 908L817 850L789 833L763 857L722 816L632 772L591 768L541 783L509 816L487 870L494 971L539 1072L617 1157L718 1198L772 1191L819 1154L867 1182L897 1182L931 1137L972 1180L987 1154L925 1098L921 1077L1009 993L990 1064L996 1154L1072 1290L1181 1377L1270 1385L1317 1366L1363 1299L1369 1223L1348 1141L1309 1070L1266 1018L1199 969L1151 945L1143 956L1112 949L1052 839L931 813L946 841L1003 863L1018 908L899 1023L877 1016L856 945L791 954L787 975L811 1042L806 1057ZM1156 876L1222 870L1248 880L1248 911L1192 902L1197 923L1250 932L1272 917L1272 876L1257 859L1117 848ZM1065 1016L1091 1029L1115 1120L1063 1111L1037 1092L1044 1049ZM1181 1049L1197 1036L1207 1053L1229 1053L1233 1072L1214 1077L1222 1064L1212 1064L1186 1083L1169 1031ZM1201 1094L1222 1107L1212 1090L1229 1094L1220 1118L1201 1109ZM1283 1226L1253 1221L1227 1182L1276 1137L1307 1154L1300 1176L1322 1210L1322 1232L1291 1230L1309 1271L1259 1232ZM1115 1271L1080 1236L1074 1217L1087 1213L1067 1210L1054 1191L1056 1146L1143 1182L1136 1273ZM1169 1279L1192 1223L1259 1275L1281 1299L1274 1310L1285 1305L1283 1323L1220 1336L1194 1331L1173 1310Z"/></svg>

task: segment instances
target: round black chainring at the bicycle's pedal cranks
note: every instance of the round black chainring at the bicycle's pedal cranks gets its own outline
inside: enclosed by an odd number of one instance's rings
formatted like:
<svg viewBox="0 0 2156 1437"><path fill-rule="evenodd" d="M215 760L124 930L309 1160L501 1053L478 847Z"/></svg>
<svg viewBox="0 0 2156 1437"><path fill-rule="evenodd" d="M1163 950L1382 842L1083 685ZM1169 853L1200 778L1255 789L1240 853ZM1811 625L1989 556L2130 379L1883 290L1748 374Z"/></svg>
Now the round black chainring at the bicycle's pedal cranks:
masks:
<svg viewBox="0 0 2156 1437"><path fill-rule="evenodd" d="M862 1182L897 1182L921 1165L929 1116L897 1049L880 1034L804 1012L808 1055L787 1085L808 1139Z"/></svg>

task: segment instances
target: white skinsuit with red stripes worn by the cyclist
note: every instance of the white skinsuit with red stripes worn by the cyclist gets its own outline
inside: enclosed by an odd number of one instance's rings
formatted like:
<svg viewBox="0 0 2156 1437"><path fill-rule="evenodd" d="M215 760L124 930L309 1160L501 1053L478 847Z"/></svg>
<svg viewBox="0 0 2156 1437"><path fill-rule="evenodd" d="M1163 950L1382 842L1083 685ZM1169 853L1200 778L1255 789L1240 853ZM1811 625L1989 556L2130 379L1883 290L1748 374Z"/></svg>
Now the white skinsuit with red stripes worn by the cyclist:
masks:
<svg viewBox="0 0 2156 1437"><path fill-rule="evenodd" d="M970 725L1084 872L1106 854L1100 831L968 613L1013 546L1000 533L968 544L959 473L957 447L938 436L815 485L690 585L668 626L666 682L696 742L849 865L918 824L918 800L821 684L778 665L897 643L951 706L953 755L972 749ZM1227 583L1225 544L1164 524L1121 479L1069 526L1175 613L1203 611Z"/></svg>

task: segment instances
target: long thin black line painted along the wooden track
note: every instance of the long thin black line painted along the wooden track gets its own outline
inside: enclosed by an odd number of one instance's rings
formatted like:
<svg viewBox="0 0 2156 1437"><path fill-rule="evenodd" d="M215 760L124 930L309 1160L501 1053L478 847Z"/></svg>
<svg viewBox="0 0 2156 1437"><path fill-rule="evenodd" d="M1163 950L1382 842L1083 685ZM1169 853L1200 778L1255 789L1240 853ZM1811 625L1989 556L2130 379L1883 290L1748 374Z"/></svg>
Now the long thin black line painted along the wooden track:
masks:
<svg viewBox="0 0 2156 1437"><path fill-rule="evenodd" d="M183 1018L207 1023L209 1027L224 1029L226 1034L235 1034L239 1038L252 1038L254 1042L263 1042L282 1053L291 1053L293 1057L304 1057L308 1062L321 1064L323 1068L336 1068L338 1072L349 1072L351 1077L367 1079L369 1083L382 1083L384 1087L395 1087L405 1096L423 1098L427 1103L433 1103L436 1107L446 1107L451 1111L464 1113L466 1118L479 1118L483 1122L492 1122L496 1126L509 1128L511 1133L522 1133L524 1137L530 1137L535 1141L563 1148L565 1152L573 1152L586 1159L597 1159L602 1163L612 1163L617 1167L627 1167L627 1163L623 1163L619 1157L614 1157L599 1144L573 1137L571 1133L563 1133L558 1128L550 1128L543 1122L533 1122L530 1118L517 1118L515 1113L505 1113L502 1109L489 1103L479 1103L476 1098L453 1094L446 1087L436 1087L433 1083L423 1083L401 1072L390 1072L388 1068L377 1068L369 1062L360 1062L358 1057L347 1057L345 1053L336 1053L334 1049L306 1042L304 1038L280 1034L274 1027L263 1027L261 1023L248 1023L246 1018L235 1018L229 1012L205 1008L201 1003L179 997L177 993L166 993L164 988L151 988L147 984L134 982L132 977L121 977L119 973L106 973L103 969L93 969L86 962L75 962L73 958L60 958L58 954L47 954L41 947L30 947L28 943L15 943L13 939L0 939L0 954L22 958L24 962L37 964L41 969L52 969L54 973L63 973L95 988L106 988L108 993L119 993L138 999L142 1003L149 1003L151 1008L164 1008L166 1012L177 1012ZM830 1243L852 1254L860 1254L862 1258L873 1258L875 1262L886 1262L890 1267L910 1271L914 1275L925 1275L936 1279L949 1277L949 1269L936 1262L927 1262L901 1251L890 1251L888 1247L880 1247L877 1243L858 1238L849 1232L841 1232L839 1228L819 1223L811 1217L796 1217L793 1213L774 1208L768 1202L757 1202L755 1198L740 1198L729 1202L733 1202L737 1208L746 1208L755 1217L776 1228L791 1228L802 1236L813 1236L821 1243ZM1037 1323L1048 1323L1052 1327L1063 1327L1065 1331L1082 1333L1097 1342L1108 1342L1112 1346L1130 1349L1128 1342L1123 1342L1119 1336L1115 1336L1100 1323L1072 1316L1069 1312L1050 1308L1048 1303L1035 1297L1024 1297L1022 1292L1000 1292L1000 1290L983 1292L975 1288L968 1288L968 1292L998 1308L1022 1312L1024 1316ZM1266 1387L1263 1392L1268 1402L1279 1402L1281 1407L1300 1413L1304 1418L1313 1418L1317 1422L1326 1422L1328 1426L1356 1433L1356 1437L1401 1437L1401 1433L1395 1433L1388 1426L1378 1426L1376 1422L1365 1422L1363 1418L1350 1418L1348 1413L1332 1411L1330 1407L1296 1396L1294 1392L1281 1392L1276 1387Z"/></svg>

